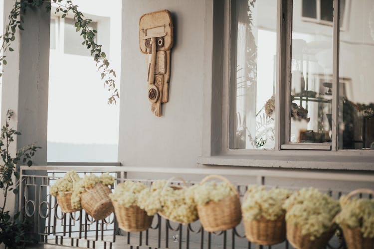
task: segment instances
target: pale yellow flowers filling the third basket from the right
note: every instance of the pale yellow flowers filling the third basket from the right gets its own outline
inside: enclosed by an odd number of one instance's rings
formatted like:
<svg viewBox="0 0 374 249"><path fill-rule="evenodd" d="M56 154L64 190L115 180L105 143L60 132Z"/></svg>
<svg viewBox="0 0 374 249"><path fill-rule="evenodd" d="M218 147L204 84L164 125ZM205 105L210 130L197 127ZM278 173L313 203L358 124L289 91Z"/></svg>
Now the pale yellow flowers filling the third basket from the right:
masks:
<svg viewBox="0 0 374 249"><path fill-rule="evenodd" d="M287 189L273 188L267 191L264 186L249 185L241 206L243 218L247 221L259 220L261 217L276 220L284 215L282 205L291 194Z"/></svg>

